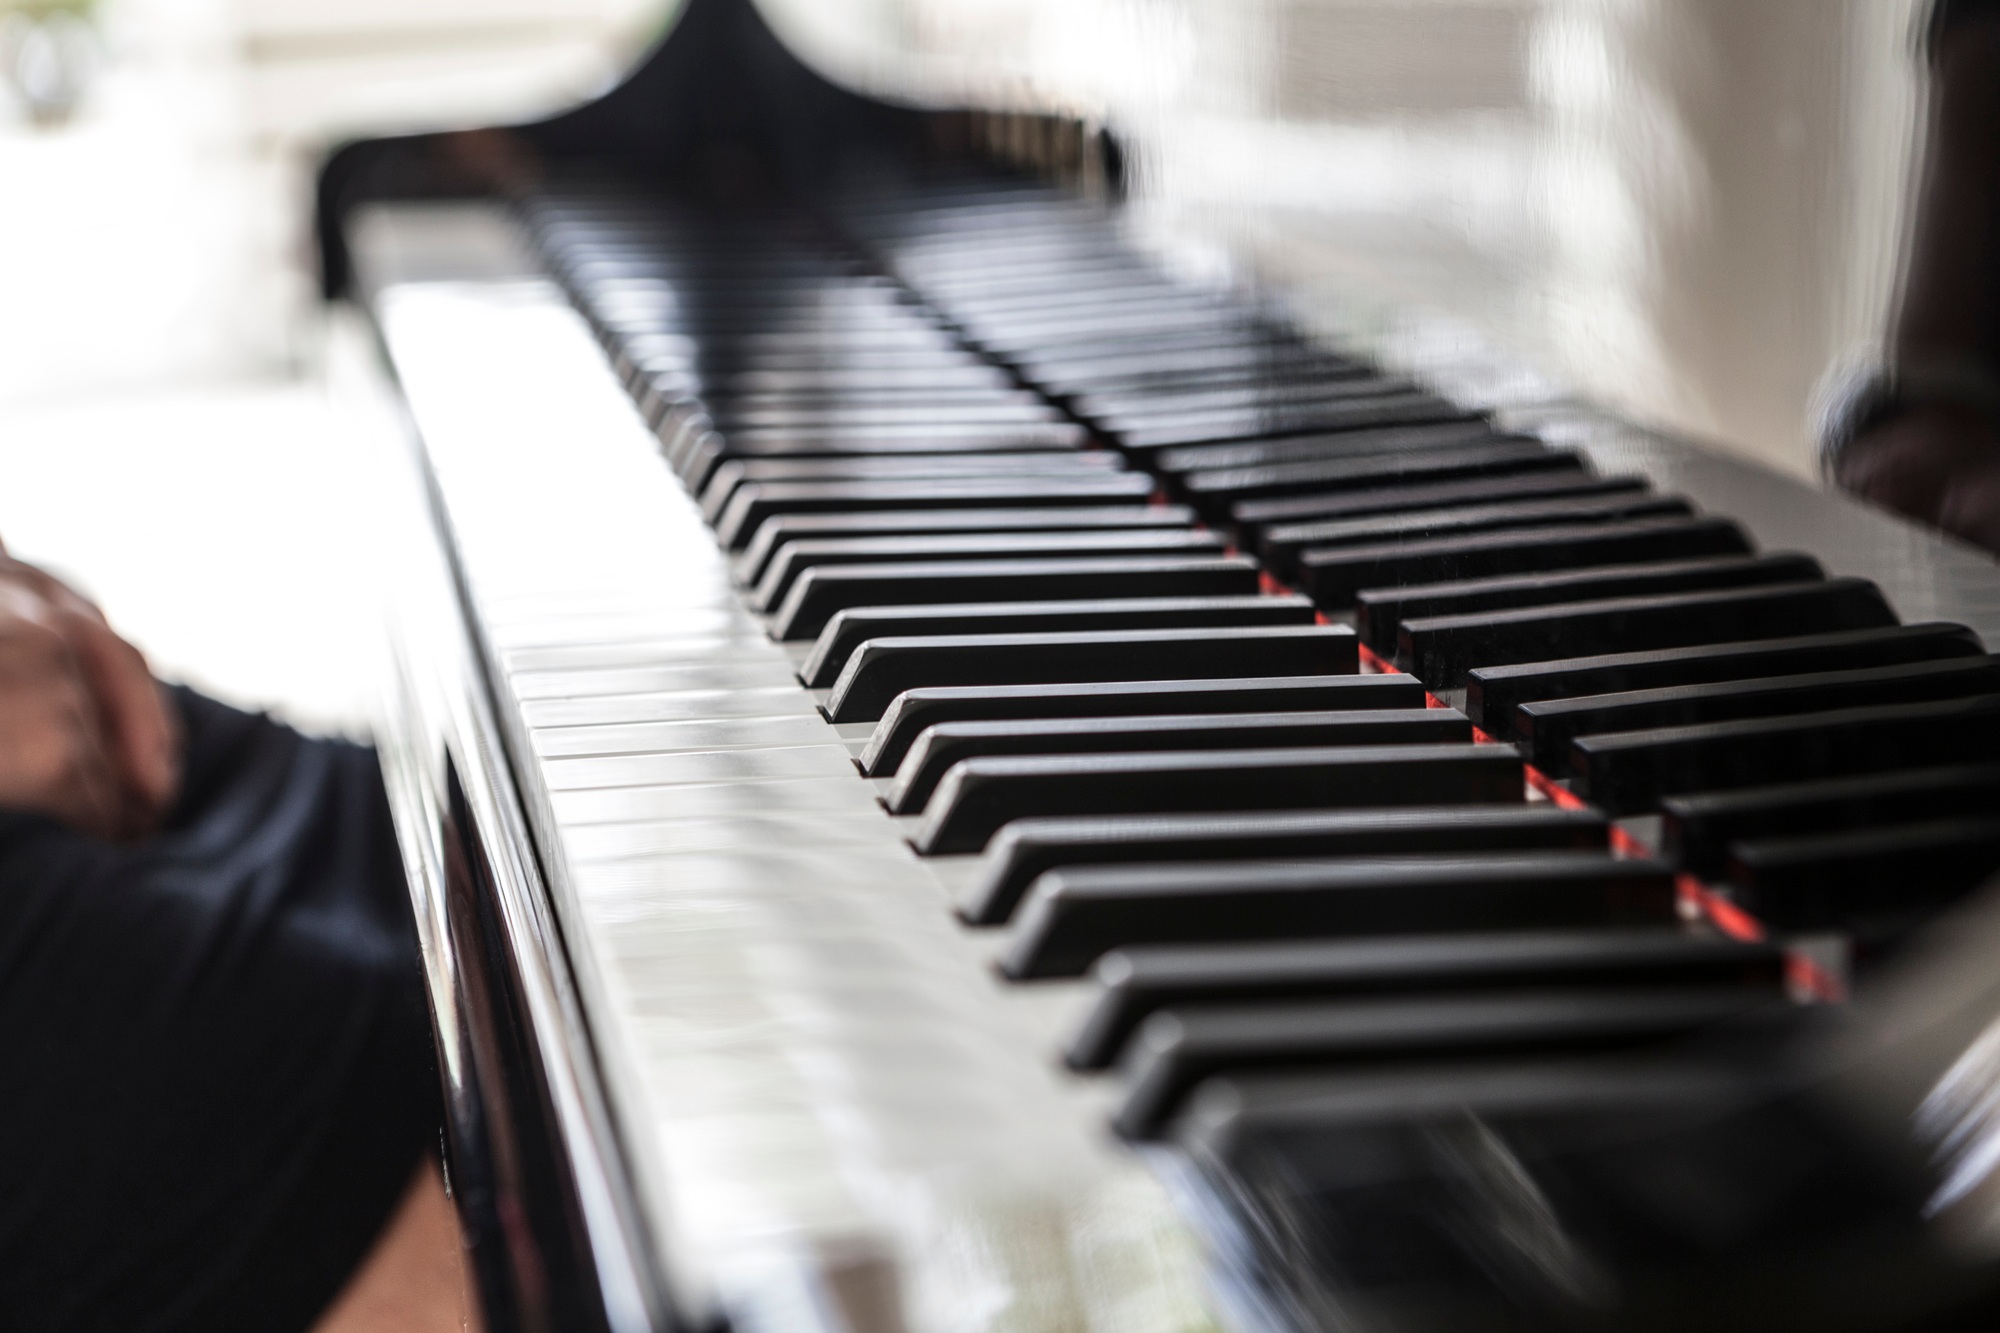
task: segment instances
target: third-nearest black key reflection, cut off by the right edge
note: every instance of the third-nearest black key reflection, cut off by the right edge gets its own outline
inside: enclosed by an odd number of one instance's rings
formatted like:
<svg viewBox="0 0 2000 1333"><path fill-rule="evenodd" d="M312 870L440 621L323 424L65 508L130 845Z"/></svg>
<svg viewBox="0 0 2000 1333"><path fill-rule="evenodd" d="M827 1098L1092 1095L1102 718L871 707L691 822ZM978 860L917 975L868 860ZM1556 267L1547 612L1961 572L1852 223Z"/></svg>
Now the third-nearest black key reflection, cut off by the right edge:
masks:
<svg viewBox="0 0 2000 1333"><path fill-rule="evenodd" d="M1690 791L1936 769L1994 755L2000 699L1986 697L1578 737L1570 769L1578 795L1612 815L1638 815Z"/></svg>

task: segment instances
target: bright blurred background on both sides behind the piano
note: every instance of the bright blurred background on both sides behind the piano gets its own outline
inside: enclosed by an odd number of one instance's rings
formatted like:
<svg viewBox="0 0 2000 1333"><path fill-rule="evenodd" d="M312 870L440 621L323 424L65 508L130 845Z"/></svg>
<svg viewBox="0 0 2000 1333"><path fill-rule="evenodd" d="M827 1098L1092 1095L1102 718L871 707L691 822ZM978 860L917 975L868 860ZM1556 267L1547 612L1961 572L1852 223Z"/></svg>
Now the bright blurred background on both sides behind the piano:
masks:
<svg viewBox="0 0 2000 1333"><path fill-rule="evenodd" d="M1918 150L1916 0L764 0L878 94L1136 146L1178 264L1438 310L1810 474ZM658 0L0 0L0 536L164 675L358 731L380 438L328 390L328 146L604 90ZM1226 142L1228 152L1208 146ZM1356 304L1356 294L1366 296ZM1360 310L1360 312L1358 312Z"/></svg>

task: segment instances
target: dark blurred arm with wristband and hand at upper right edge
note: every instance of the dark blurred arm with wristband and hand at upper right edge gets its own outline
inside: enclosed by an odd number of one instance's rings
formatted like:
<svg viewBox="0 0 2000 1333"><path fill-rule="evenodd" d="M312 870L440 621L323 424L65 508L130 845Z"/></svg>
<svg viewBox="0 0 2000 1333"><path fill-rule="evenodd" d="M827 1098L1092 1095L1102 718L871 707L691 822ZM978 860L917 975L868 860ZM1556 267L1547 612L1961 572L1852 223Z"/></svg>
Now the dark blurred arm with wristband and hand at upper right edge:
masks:
<svg viewBox="0 0 2000 1333"><path fill-rule="evenodd" d="M2000 552L2000 4L1946 0L1892 366L1830 460L1842 488Z"/></svg>

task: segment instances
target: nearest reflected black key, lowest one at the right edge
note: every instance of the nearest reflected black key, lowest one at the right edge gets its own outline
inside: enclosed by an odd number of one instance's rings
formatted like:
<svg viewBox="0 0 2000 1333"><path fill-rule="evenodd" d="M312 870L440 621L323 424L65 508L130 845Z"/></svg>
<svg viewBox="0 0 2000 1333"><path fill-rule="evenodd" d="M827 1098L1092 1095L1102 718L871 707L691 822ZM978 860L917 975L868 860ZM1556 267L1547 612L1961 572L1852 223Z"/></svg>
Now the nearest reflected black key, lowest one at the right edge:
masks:
<svg viewBox="0 0 2000 1333"><path fill-rule="evenodd" d="M2000 871L2000 815L1732 843L1736 901L1786 931L1912 925Z"/></svg>

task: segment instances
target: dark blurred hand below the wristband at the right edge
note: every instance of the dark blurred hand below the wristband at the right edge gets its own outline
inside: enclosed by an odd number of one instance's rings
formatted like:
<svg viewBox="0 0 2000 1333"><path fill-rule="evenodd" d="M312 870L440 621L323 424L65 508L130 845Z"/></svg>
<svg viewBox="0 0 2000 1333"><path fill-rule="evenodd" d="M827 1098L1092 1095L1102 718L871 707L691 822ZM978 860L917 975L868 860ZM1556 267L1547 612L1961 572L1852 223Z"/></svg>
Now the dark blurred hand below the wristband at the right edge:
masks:
<svg viewBox="0 0 2000 1333"><path fill-rule="evenodd" d="M1834 480L1864 500L2000 554L2000 434L1978 412L1900 412L1840 452Z"/></svg>

